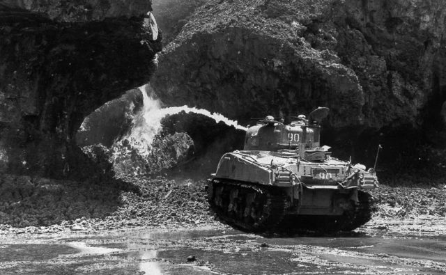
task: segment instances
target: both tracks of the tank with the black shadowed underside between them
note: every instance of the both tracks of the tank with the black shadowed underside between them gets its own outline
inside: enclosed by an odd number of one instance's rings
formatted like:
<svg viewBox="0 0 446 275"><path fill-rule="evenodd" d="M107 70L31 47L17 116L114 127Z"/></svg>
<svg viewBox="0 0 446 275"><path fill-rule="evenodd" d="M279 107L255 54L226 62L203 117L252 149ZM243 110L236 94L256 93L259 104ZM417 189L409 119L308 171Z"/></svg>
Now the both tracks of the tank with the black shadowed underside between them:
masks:
<svg viewBox="0 0 446 275"><path fill-rule="evenodd" d="M358 190L358 201L342 216L286 215L290 203L276 188L233 180L210 180L211 209L220 219L247 231L294 234L316 232L330 234L351 231L364 225L374 212L373 197Z"/></svg>

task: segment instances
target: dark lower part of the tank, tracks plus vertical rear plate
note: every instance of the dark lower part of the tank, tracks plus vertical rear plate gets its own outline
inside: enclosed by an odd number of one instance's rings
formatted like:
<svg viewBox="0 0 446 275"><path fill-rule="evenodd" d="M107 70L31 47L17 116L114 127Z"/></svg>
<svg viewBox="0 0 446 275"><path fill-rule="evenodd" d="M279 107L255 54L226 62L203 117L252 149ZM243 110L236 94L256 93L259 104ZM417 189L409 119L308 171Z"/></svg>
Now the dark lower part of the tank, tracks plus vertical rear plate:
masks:
<svg viewBox="0 0 446 275"><path fill-rule="evenodd" d="M254 232L333 233L354 230L371 219L373 198L364 191L304 189L302 198L307 199L302 204L292 200L290 192L289 187L213 179L208 184L208 201L218 217Z"/></svg>

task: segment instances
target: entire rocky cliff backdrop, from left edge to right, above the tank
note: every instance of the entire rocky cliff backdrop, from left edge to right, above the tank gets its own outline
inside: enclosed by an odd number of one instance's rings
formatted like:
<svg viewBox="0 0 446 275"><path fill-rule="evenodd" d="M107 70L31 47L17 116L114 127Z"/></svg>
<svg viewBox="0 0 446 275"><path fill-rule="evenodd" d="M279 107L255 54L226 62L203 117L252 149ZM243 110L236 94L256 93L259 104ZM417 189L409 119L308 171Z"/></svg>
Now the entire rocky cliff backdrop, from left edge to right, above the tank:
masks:
<svg viewBox="0 0 446 275"><path fill-rule="evenodd" d="M399 152L404 163L426 140L443 145L445 5L154 1L172 41L151 83L167 106L245 124L329 107L323 139L348 148L342 157L367 152L373 162L384 143L383 157L393 162ZM0 8L0 171L84 170L74 138L84 118L154 70L160 40L140 43L151 1L7 0Z"/></svg>

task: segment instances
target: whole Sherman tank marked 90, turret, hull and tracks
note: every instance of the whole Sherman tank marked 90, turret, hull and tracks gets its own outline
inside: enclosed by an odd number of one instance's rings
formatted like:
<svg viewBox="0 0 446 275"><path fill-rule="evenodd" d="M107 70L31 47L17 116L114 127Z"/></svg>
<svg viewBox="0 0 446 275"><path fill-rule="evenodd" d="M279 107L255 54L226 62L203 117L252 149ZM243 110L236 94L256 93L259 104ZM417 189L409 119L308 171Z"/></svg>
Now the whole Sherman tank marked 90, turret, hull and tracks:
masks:
<svg viewBox="0 0 446 275"><path fill-rule="evenodd" d="M319 142L319 107L284 125L272 116L247 129L243 150L222 156L208 201L225 221L250 231L353 230L371 219L374 168L331 156Z"/></svg>

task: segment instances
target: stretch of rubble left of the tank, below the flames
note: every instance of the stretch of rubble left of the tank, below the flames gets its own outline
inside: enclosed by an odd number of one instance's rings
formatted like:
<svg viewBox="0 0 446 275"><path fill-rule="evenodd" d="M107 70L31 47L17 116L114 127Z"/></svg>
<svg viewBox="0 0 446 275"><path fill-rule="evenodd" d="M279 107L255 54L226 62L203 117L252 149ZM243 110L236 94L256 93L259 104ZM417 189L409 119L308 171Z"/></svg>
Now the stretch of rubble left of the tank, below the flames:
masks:
<svg viewBox="0 0 446 275"><path fill-rule="evenodd" d="M3 175L0 183L0 233L217 224L205 180L139 176L100 185Z"/></svg>

